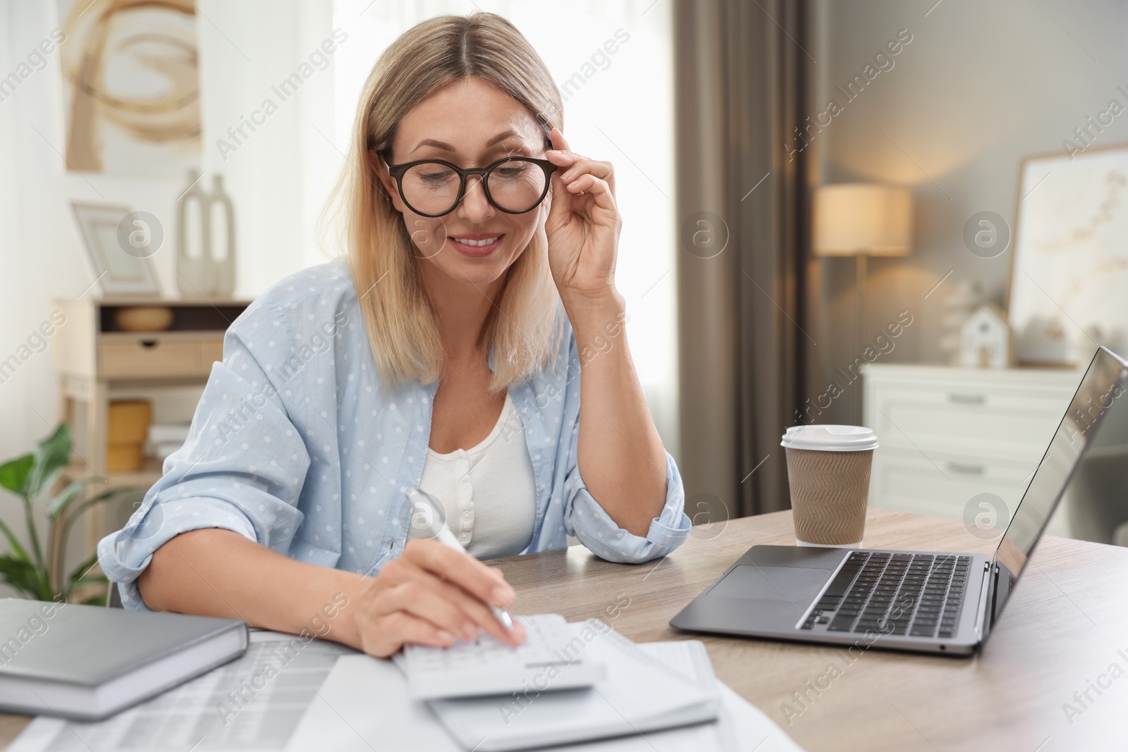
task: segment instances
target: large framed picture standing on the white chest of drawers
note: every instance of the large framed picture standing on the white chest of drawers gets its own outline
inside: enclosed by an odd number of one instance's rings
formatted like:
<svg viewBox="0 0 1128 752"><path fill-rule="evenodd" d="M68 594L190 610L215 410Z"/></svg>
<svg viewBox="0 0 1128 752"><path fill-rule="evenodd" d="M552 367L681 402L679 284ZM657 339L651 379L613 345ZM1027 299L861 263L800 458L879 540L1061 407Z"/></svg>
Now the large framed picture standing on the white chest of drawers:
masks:
<svg viewBox="0 0 1128 752"><path fill-rule="evenodd" d="M1128 344L1128 145L1028 157L1019 170L1007 318L1026 365Z"/></svg>

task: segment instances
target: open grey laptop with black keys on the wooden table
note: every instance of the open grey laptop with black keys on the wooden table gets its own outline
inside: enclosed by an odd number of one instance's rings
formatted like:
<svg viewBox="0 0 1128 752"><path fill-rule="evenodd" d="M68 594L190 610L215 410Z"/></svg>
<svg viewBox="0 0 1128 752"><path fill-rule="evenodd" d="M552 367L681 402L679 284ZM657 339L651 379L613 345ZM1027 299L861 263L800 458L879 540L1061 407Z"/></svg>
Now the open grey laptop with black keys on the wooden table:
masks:
<svg viewBox="0 0 1128 752"><path fill-rule="evenodd" d="M1100 347L990 556L754 546L670 625L687 631L967 655L998 620L1109 414L1128 362Z"/></svg>

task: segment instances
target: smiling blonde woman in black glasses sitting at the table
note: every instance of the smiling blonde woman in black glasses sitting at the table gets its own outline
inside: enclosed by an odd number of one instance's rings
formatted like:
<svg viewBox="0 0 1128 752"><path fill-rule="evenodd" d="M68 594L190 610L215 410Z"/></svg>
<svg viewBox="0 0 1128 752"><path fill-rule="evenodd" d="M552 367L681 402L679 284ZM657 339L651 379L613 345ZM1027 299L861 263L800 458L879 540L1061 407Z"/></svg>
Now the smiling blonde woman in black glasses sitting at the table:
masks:
<svg viewBox="0 0 1128 752"><path fill-rule="evenodd" d="M127 608L326 623L377 656L479 628L515 645L491 609L513 590L481 558L573 533L637 563L685 539L614 285L611 166L569 150L561 113L492 14L380 56L336 196L347 260L228 329L187 442L99 545ZM468 554L408 539L416 486Z"/></svg>

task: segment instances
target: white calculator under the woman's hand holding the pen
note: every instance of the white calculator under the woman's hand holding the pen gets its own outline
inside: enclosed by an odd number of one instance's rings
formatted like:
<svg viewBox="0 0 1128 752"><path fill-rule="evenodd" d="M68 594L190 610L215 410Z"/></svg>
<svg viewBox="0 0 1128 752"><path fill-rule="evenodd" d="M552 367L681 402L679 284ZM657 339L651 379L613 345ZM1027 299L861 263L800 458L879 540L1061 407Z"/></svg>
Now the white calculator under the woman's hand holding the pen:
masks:
<svg viewBox="0 0 1128 752"><path fill-rule="evenodd" d="M395 662L407 676L407 692L416 699L528 693L591 687L605 676L605 666L585 655L564 617L543 613L518 617L525 643L511 647L485 631L450 647L407 645Z"/></svg>

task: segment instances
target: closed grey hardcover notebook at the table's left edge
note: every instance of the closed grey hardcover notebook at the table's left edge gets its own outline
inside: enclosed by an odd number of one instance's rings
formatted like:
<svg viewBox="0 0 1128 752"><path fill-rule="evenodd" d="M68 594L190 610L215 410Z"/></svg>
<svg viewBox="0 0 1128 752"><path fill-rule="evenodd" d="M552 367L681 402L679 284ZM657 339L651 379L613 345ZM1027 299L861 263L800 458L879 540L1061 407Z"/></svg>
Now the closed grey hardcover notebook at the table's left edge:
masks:
<svg viewBox="0 0 1128 752"><path fill-rule="evenodd" d="M0 599L0 709L97 720L246 649L243 621Z"/></svg>

